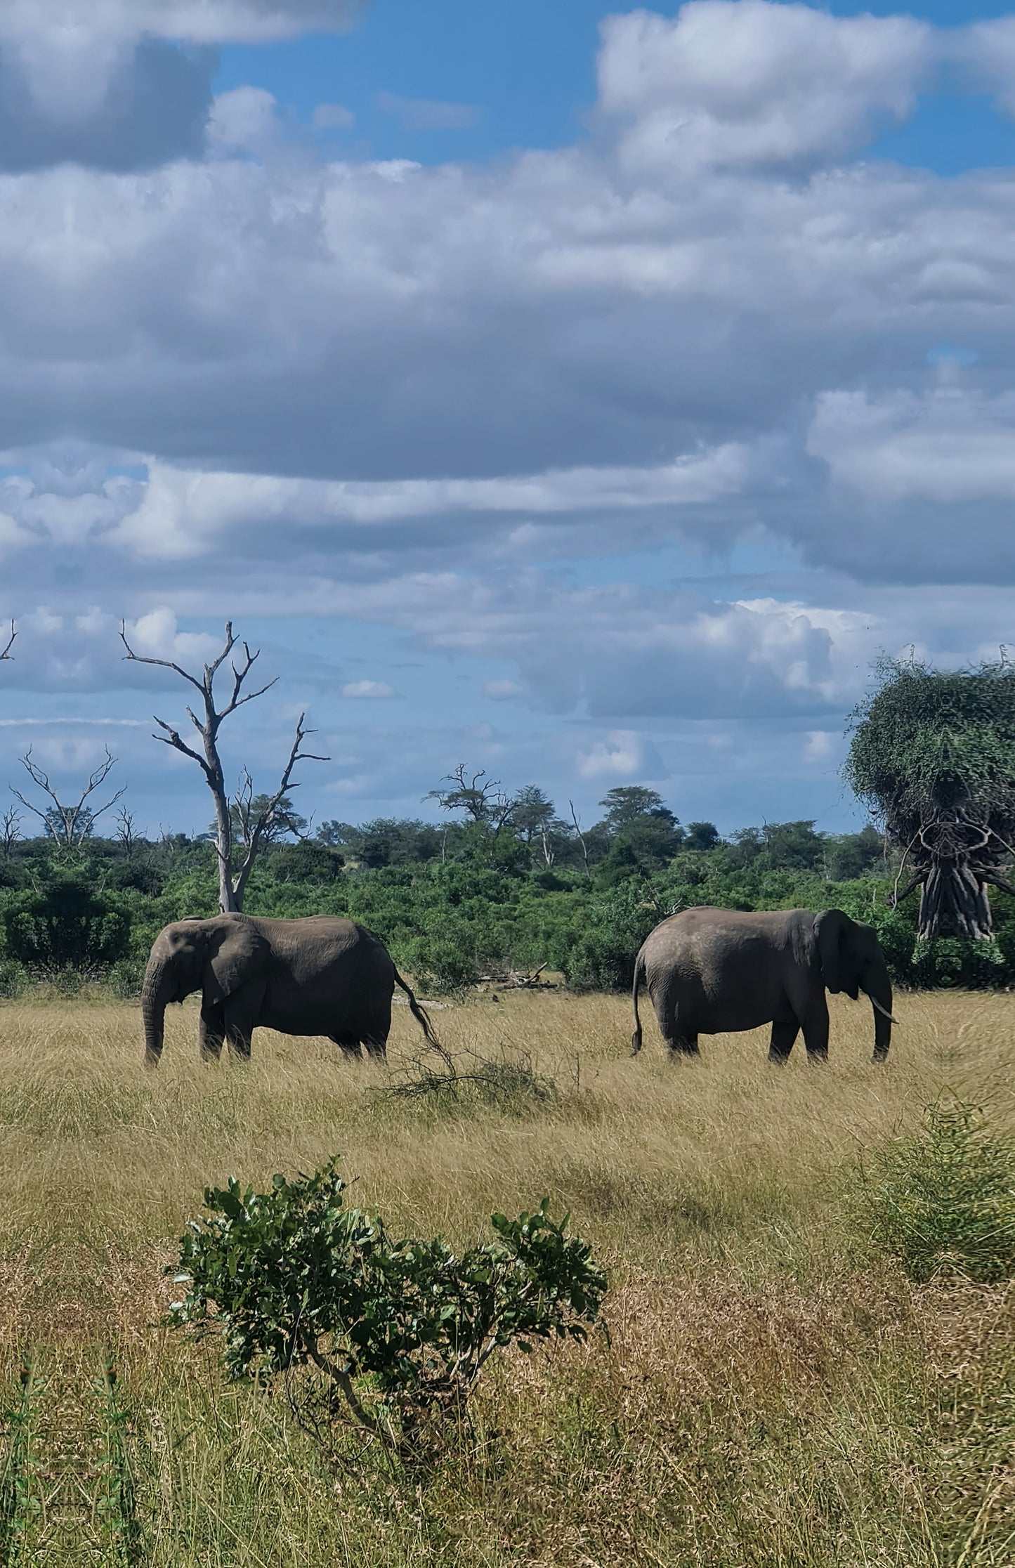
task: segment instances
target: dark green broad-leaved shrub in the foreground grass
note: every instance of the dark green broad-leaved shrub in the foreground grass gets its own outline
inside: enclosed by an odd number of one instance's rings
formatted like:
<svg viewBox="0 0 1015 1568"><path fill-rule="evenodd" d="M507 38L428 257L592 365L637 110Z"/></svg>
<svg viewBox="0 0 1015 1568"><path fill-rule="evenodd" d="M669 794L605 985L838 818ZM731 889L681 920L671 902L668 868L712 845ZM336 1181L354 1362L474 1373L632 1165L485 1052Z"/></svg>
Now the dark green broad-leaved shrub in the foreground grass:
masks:
<svg viewBox="0 0 1015 1568"><path fill-rule="evenodd" d="M494 1214L496 1240L455 1254L439 1236L392 1239L342 1192L336 1160L270 1192L207 1189L168 1322L221 1333L232 1377L317 1369L345 1419L405 1458L441 1446L497 1347L585 1338L606 1275L546 1198L516 1220Z"/></svg>

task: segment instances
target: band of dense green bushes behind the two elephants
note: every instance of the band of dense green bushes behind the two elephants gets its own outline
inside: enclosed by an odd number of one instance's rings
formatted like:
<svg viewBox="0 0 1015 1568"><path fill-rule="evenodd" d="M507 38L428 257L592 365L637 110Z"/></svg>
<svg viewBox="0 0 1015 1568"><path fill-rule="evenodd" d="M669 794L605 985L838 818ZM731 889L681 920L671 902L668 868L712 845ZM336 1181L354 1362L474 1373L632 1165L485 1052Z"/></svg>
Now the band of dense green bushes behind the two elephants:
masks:
<svg viewBox="0 0 1015 1568"><path fill-rule="evenodd" d="M915 908L889 908L897 862L874 828L833 836L789 822L720 839L712 823L681 825L640 786L610 790L602 804L601 822L576 828L532 787L507 817L455 800L447 822L328 822L312 839L293 839L306 826L293 814L257 859L245 908L348 914L438 991L540 964L576 989L624 988L651 927L697 903L838 906L877 927L896 983L1015 982L1015 900L995 892L993 942L916 944ZM212 914L216 900L215 851L204 837L8 842L0 985L17 994L45 978L72 991L91 977L129 996L155 933L182 916Z"/></svg>

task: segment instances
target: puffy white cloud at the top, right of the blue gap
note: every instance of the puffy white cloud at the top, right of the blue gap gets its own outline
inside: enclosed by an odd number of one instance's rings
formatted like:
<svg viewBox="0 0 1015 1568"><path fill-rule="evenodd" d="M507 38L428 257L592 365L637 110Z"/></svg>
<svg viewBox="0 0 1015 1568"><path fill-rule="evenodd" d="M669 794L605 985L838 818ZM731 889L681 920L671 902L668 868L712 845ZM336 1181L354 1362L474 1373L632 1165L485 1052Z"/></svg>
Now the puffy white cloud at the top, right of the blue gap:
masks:
<svg viewBox="0 0 1015 1568"><path fill-rule="evenodd" d="M819 163L902 121L933 56L913 17L692 0L601 24L599 107L629 169Z"/></svg>

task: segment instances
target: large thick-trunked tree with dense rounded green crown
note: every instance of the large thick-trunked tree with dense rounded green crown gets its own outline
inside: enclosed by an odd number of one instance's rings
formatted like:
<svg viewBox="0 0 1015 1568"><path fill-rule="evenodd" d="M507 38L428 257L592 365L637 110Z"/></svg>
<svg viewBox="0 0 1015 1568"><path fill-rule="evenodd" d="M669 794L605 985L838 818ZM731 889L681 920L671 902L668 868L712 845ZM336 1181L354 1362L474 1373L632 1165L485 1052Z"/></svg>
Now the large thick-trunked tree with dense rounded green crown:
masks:
<svg viewBox="0 0 1015 1568"><path fill-rule="evenodd" d="M993 936L988 887L1015 892L1015 665L883 660L853 712L846 778L902 851L891 903L921 889L919 936ZM908 881L899 891L902 877Z"/></svg>

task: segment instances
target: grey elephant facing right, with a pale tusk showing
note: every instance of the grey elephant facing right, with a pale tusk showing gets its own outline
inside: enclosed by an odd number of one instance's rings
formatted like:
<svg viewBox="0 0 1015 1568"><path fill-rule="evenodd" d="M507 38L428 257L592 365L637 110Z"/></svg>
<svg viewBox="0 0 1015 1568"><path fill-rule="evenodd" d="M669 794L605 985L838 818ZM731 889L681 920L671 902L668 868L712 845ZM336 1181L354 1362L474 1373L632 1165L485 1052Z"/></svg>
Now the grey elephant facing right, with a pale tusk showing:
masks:
<svg viewBox="0 0 1015 1568"><path fill-rule="evenodd" d="M642 1049L645 982L670 1058L697 1057L698 1035L772 1024L769 1060L784 1063L803 1030L811 1060L828 1055L825 991L871 999L874 1060L891 1043L891 980L877 933L841 909L682 909L649 931L634 964L634 1035Z"/></svg>

